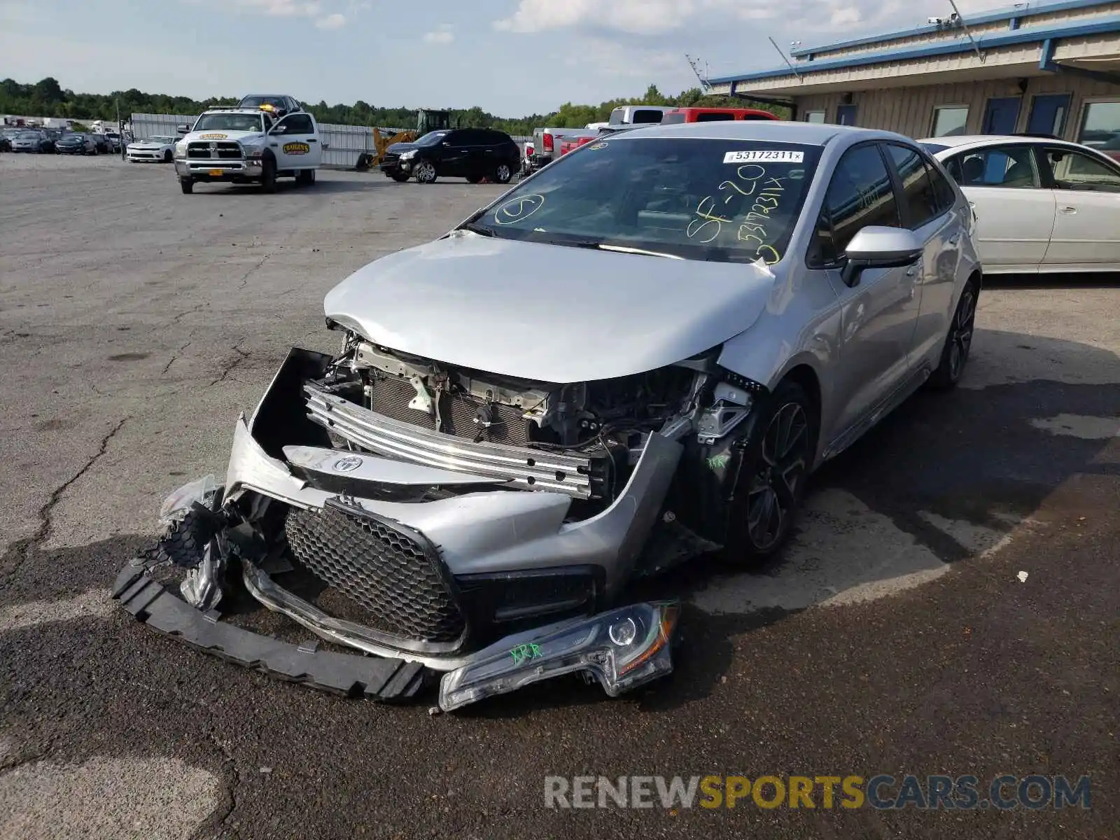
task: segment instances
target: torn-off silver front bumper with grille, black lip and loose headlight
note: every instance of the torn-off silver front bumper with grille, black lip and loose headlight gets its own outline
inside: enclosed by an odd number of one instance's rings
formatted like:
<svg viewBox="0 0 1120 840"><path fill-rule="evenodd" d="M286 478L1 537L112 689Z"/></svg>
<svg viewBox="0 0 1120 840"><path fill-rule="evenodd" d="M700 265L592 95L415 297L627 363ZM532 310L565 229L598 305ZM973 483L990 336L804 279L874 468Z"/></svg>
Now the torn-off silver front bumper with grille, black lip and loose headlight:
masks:
<svg viewBox="0 0 1120 840"><path fill-rule="evenodd" d="M580 480L558 475L553 488L515 489L533 485L531 470L543 465L530 459L519 468L511 458L510 474L500 475L497 445L452 436L432 440L438 432L402 428L362 407L347 414L308 385L328 362L323 354L292 349L252 418L239 419L221 505L199 508L216 524L194 543L198 557L179 563L194 576L181 587L192 604L209 608L221 598L222 581L239 580L264 607L327 642L394 666L403 662L447 673L457 687L447 708L560 673L590 674L614 694L671 670L668 640L657 642L646 632L651 622L661 622L650 610L661 615L662 607L600 610L634 571L675 473L680 444L650 435L615 501L597 515L569 521L573 498L585 493ZM324 446L326 432L316 422L324 411L334 417L335 431L348 426L351 433L361 431L368 441L364 450ZM383 447L395 447L395 457L370 451ZM492 489L495 484L505 486ZM432 486L458 489L435 498L417 494ZM251 642L235 627L215 629L214 613L185 613L193 609L189 604L143 584L149 579L141 567L123 570L114 591L141 620L152 624L151 616L166 615L153 624L157 629L242 663L259 660L251 654L264 645L283 663L267 670L281 675L302 662L290 646L269 646L274 640ZM240 573L230 577L227 570ZM320 603L321 586L304 597L299 575L307 572L354 608L339 614L329 600ZM297 577L289 581L289 573ZM153 612L150 604L159 608ZM619 622L629 624L612 636L607 625ZM640 640L626 629L631 624L646 627ZM176 631L180 625L189 632ZM226 638L231 633L236 637ZM655 642L650 669L624 668L627 656ZM244 653L231 652L231 645ZM506 655L517 665L515 673ZM307 681L336 687L338 672L329 674ZM408 683L396 674L385 680ZM379 670L353 682L367 685L381 675ZM386 699L381 689L372 693Z"/></svg>

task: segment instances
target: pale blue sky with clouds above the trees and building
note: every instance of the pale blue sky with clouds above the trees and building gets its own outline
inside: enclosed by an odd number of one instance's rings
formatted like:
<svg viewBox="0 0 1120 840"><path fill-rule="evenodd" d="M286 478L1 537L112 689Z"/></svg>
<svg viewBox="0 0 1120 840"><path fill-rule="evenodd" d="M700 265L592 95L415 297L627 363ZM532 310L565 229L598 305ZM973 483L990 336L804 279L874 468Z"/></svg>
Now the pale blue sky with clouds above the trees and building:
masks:
<svg viewBox="0 0 1120 840"><path fill-rule="evenodd" d="M1005 6L958 0L967 16ZM503 116L693 86L787 49L948 17L949 0L0 0L0 78L250 92Z"/></svg>

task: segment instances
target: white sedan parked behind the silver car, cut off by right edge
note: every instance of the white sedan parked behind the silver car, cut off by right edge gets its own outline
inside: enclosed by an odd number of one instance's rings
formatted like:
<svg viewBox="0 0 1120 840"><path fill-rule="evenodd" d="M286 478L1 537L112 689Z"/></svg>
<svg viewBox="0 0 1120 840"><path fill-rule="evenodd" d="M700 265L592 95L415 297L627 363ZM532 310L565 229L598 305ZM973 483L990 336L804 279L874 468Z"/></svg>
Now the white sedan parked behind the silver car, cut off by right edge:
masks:
<svg viewBox="0 0 1120 840"><path fill-rule="evenodd" d="M1038 137L920 141L977 215L986 274L1120 271L1120 165Z"/></svg>

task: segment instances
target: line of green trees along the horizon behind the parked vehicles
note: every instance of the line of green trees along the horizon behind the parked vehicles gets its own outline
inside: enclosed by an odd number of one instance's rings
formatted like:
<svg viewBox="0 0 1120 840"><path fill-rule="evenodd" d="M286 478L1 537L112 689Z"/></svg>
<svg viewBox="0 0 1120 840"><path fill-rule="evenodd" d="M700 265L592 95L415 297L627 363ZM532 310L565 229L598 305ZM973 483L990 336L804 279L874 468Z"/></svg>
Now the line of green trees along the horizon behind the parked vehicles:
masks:
<svg viewBox="0 0 1120 840"><path fill-rule="evenodd" d="M115 91L109 94L74 93L63 90L55 78L44 78L35 84L20 84L11 78L0 82L0 113L27 116L60 116L71 120L115 120L118 112L124 119L131 113L197 114L207 108L236 104L235 96L213 96L196 101L187 96L167 96L143 93L137 88ZM566 102L548 114L529 114L521 118L496 116L480 108L451 109L452 125L498 129L510 134L531 134L542 125L579 128L589 122L606 122L610 111L618 105L640 102L646 105L671 106L754 106L786 115L780 106L745 102L729 96L704 94L699 87L684 91L675 96L666 96L650 85L645 94L635 99L617 99L598 105L579 105ZM305 103L308 111L319 122L342 125L379 125L383 128L416 128L417 112L410 108L375 108L358 100L353 105L328 105L325 101L316 105Z"/></svg>

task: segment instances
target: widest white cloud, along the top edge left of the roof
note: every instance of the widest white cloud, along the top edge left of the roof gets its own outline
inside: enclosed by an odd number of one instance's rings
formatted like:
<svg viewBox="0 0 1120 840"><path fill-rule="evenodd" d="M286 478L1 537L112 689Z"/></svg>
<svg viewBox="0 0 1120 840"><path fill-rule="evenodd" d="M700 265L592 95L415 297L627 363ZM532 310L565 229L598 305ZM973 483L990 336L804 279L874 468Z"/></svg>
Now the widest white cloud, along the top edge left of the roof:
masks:
<svg viewBox="0 0 1120 840"><path fill-rule="evenodd" d="M991 9L1004 0L962 0L961 12ZM946 4L948 6L948 4ZM913 18L913 19L911 19ZM842 31L871 26L917 26L912 0L517 0L513 13L494 21L511 32L553 29L609 29L632 35L661 35L683 27L728 27L771 21L775 30L796 21L804 31ZM757 36L745 30L744 36Z"/></svg>

